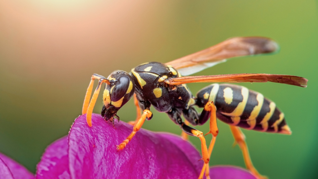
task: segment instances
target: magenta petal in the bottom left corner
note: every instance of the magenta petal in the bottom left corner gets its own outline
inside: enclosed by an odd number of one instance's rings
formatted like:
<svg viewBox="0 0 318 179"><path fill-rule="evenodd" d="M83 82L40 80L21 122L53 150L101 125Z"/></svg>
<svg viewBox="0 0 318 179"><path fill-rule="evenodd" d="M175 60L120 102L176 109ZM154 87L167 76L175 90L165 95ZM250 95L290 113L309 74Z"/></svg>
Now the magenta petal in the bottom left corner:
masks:
<svg viewBox="0 0 318 179"><path fill-rule="evenodd" d="M22 165L0 153L0 178L33 179L34 176Z"/></svg>

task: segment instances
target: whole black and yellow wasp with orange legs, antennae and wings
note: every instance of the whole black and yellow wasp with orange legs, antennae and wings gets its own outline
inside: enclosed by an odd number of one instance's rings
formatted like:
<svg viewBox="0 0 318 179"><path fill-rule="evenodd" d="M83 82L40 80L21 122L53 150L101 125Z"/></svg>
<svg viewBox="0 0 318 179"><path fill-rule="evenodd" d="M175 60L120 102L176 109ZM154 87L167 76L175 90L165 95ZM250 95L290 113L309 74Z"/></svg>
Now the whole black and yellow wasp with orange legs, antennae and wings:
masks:
<svg viewBox="0 0 318 179"><path fill-rule="evenodd" d="M218 135L217 118L230 125L235 142L242 150L246 168L257 178L266 178L254 168L248 153L245 136L239 127L261 132L291 134L284 114L275 103L261 93L248 90L244 86L226 84L241 82L275 82L294 86L307 86L307 79L277 74L225 74L208 76L188 76L203 69L239 56L272 53L278 50L275 41L265 37L237 37L227 39L202 51L170 61L168 63L148 62L133 68L129 73L114 71L108 78L93 74L86 91L82 114L86 114L88 126L92 126L92 111L100 92L103 92L102 117L112 121L119 117L118 110L134 96L137 118L132 133L117 146L126 147L145 120L153 117L150 106L168 114L180 126L184 134L197 136L201 141L203 168L199 178L209 177L209 158ZM182 76L183 75L183 76ZM98 86L90 100L94 79ZM193 96L187 83L213 83ZM216 82L216 83L215 83ZM225 82L224 84L218 84ZM198 113L194 106L203 108ZM182 116L185 121L182 120ZM203 125L210 118L212 140L207 148L203 132L190 127Z"/></svg>

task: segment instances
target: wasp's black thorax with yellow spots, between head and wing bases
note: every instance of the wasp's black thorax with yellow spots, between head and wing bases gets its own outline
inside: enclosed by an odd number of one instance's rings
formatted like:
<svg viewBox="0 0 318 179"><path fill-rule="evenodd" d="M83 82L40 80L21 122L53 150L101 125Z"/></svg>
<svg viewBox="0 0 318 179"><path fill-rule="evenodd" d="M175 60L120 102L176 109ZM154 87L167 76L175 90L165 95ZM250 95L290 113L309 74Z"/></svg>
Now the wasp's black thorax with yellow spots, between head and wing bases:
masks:
<svg viewBox="0 0 318 179"><path fill-rule="evenodd" d="M173 67L159 62L149 62L132 69L131 77L136 85L137 98L142 103L141 109L149 108L150 104L159 112L169 112L172 108L185 108L192 97L187 87L170 86L164 81L178 76Z"/></svg>

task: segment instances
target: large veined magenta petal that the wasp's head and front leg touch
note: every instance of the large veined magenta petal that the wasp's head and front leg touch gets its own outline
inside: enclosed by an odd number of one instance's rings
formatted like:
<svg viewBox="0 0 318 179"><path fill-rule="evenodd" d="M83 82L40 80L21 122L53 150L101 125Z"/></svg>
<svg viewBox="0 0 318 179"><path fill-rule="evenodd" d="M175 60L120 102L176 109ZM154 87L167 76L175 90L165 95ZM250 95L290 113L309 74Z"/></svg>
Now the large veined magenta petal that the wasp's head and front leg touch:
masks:
<svg viewBox="0 0 318 179"><path fill-rule="evenodd" d="M197 150L170 134L137 132L127 147L117 152L133 126L105 122L93 114L93 127L86 115L79 116L69 134L69 162L72 178L197 178L202 166ZM179 138L179 139L177 139ZM178 146L179 145L179 146ZM186 146L186 149L181 149ZM186 152L185 152L186 151Z"/></svg>

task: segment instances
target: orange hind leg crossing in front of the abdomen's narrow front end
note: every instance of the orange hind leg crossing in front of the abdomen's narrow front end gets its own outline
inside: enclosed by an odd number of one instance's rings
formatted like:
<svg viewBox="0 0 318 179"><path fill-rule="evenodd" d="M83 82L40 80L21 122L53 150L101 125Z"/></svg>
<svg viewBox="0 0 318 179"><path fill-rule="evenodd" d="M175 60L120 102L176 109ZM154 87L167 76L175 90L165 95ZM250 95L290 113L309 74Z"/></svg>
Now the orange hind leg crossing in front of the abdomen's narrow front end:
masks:
<svg viewBox="0 0 318 179"><path fill-rule="evenodd" d="M206 103L204 110L206 111L211 111L210 114L210 131L207 134L212 134L212 140L209 146L209 150L208 150L208 157L210 158L217 135L218 135L218 126L217 126L217 117L216 117L216 107L213 104L213 101L209 101L208 103ZM205 135L207 135L205 134ZM204 163L203 168L201 170L200 176L199 178L203 178L204 175L204 171L205 171L205 176L207 179L210 178L209 174L209 163Z"/></svg>

